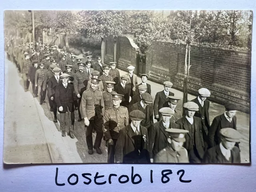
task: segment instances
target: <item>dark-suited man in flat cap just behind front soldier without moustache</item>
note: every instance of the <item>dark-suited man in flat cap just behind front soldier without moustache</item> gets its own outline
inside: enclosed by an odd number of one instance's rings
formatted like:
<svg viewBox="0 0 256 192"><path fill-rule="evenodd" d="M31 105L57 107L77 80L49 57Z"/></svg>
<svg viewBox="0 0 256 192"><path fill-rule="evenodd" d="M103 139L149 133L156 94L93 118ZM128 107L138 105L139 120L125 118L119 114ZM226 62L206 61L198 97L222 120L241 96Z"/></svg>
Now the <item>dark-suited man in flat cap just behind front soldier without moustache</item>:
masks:
<svg viewBox="0 0 256 192"><path fill-rule="evenodd" d="M121 106L124 106L126 108L129 107L129 101L130 101L130 94L132 92L131 84L127 84L128 76L122 75L121 76L121 83L114 86L114 91L118 94L124 95L124 98L122 99Z"/></svg>

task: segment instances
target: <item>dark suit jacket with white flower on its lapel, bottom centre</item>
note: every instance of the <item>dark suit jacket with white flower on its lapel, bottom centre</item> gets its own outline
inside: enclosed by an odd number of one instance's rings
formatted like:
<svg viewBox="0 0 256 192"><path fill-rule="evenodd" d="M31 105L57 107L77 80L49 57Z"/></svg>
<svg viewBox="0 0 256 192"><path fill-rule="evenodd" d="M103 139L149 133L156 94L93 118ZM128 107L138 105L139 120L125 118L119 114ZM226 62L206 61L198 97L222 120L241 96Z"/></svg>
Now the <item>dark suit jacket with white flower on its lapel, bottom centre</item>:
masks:
<svg viewBox="0 0 256 192"><path fill-rule="evenodd" d="M147 128L140 126L142 136L146 136L146 141L142 139L143 149L141 151L135 146L136 136L132 136L132 132L130 124L120 130L115 148L115 161L120 163L149 163Z"/></svg>

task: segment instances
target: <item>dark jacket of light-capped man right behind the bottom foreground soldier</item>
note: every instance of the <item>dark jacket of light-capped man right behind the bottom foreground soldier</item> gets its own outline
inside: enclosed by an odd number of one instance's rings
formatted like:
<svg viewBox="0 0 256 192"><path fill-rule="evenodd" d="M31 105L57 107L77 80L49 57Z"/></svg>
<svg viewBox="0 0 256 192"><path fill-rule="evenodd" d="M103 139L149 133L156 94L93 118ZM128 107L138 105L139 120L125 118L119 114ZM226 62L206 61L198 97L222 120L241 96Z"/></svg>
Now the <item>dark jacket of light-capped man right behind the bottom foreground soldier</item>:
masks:
<svg viewBox="0 0 256 192"><path fill-rule="evenodd" d="M170 122L169 128L178 129L179 126L173 122ZM149 154L150 158L154 158L154 156L160 152L160 150L166 148L169 137L168 132L165 131L165 127L163 121L160 120L154 124L152 124L148 128L148 137L149 137Z"/></svg>

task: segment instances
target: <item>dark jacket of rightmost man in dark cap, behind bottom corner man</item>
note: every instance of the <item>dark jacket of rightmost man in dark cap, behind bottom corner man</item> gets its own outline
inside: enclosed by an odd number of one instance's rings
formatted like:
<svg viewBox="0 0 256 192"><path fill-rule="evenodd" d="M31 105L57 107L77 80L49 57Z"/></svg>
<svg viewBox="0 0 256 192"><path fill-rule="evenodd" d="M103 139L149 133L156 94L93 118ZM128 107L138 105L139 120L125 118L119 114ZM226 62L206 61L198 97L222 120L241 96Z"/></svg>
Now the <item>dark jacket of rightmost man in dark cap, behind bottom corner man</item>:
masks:
<svg viewBox="0 0 256 192"><path fill-rule="evenodd" d="M214 147L215 145L220 144L220 130L222 128L226 128L223 126L223 120L225 120L226 117L223 114L216 116L214 120L212 121L212 125L208 132L208 139L209 139L209 145L210 147ZM236 116L233 117L234 120L234 128L236 130Z"/></svg>

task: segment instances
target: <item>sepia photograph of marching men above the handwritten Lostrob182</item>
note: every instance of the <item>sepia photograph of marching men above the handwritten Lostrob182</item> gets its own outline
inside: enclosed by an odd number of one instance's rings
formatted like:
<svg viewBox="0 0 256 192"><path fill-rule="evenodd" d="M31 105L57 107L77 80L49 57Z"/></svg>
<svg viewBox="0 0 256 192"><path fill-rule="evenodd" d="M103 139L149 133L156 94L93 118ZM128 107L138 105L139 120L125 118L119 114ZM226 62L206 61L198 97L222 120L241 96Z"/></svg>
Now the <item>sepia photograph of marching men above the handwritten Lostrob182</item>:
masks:
<svg viewBox="0 0 256 192"><path fill-rule="evenodd" d="M250 10L5 10L4 164L250 164Z"/></svg>

